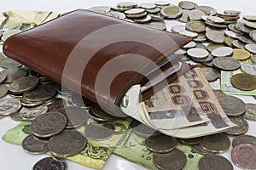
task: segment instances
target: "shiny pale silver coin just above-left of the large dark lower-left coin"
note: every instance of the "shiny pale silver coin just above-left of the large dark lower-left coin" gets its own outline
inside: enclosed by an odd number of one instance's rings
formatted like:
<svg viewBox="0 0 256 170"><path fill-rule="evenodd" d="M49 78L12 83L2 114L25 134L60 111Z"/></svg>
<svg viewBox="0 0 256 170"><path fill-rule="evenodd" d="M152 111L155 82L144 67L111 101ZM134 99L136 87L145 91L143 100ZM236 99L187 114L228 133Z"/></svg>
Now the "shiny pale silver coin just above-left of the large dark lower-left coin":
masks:
<svg viewBox="0 0 256 170"><path fill-rule="evenodd" d="M47 105L39 105L37 107L22 107L20 109L20 117L24 121L32 121L37 116L42 115L48 111Z"/></svg>

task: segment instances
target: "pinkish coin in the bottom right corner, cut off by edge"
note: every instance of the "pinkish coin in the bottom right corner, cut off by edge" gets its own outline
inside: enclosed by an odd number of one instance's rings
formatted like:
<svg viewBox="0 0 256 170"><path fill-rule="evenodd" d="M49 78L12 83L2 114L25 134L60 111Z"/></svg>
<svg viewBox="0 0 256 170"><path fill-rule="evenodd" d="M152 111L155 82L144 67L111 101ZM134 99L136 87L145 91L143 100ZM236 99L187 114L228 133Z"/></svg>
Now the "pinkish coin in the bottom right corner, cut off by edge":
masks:
<svg viewBox="0 0 256 170"><path fill-rule="evenodd" d="M256 146L239 144L231 152L231 157L237 167L256 169Z"/></svg>

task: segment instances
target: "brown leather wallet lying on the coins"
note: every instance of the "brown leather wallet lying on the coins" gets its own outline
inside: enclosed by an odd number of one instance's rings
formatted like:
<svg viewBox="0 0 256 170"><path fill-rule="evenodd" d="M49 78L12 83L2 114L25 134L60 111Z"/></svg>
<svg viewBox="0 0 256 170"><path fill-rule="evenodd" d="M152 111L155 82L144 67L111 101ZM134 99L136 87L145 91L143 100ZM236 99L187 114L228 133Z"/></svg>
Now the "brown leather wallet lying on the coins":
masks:
<svg viewBox="0 0 256 170"><path fill-rule="evenodd" d="M115 111L132 85L190 40L78 9L9 37L3 52ZM168 67L177 64L177 58L171 57L168 63Z"/></svg>

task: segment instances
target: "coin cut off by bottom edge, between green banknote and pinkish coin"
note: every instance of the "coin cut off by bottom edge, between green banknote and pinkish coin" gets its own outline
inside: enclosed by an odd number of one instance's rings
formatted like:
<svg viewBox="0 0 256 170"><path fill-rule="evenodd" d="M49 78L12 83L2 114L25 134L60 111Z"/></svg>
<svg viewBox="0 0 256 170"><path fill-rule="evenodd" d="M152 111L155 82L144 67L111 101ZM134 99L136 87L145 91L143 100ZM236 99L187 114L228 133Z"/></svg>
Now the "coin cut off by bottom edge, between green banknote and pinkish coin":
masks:
<svg viewBox="0 0 256 170"><path fill-rule="evenodd" d="M231 162L225 158L224 156L203 156L198 162L199 170L216 170L216 169L224 169L224 170L233 170Z"/></svg>

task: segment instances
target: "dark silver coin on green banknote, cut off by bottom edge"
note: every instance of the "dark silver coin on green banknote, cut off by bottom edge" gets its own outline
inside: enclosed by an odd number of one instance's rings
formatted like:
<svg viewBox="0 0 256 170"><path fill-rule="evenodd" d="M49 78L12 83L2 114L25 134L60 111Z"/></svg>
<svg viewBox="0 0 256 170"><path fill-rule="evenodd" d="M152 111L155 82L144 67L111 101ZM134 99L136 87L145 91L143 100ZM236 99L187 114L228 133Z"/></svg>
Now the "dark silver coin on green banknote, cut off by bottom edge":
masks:
<svg viewBox="0 0 256 170"><path fill-rule="evenodd" d="M166 154L154 153L154 165L160 169L183 169L187 163L187 157L181 150L172 150Z"/></svg>

